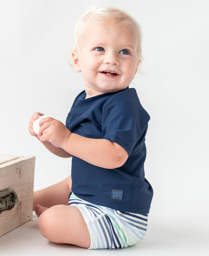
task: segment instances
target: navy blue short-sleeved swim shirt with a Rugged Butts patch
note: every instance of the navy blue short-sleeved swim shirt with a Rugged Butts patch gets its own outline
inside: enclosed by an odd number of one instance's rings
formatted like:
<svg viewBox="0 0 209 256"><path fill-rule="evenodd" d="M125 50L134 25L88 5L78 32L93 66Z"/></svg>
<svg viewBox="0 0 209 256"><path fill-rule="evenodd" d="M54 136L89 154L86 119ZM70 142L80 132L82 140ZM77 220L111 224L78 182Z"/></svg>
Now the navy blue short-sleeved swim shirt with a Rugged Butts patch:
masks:
<svg viewBox="0 0 209 256"><path fill-rule="evenodd" d="M134 88L75 99L66 127L87 138L107 139L129 154L123 166L106 169L72 156L72 191L90 203L132 213L149 213L152 186L145 178L145 135L150 119Z"/></svg>

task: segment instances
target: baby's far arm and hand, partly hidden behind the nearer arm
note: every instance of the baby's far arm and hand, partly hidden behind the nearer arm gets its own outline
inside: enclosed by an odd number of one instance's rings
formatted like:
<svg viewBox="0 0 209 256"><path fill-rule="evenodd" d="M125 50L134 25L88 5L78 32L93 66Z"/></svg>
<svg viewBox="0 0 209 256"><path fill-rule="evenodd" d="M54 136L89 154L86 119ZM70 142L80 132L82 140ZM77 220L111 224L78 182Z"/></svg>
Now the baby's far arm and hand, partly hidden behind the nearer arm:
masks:
<svg viewBox="0 0 209 256"><path fill-rule="evenodd" d="M31 119L30 119L30 122L29 122L29 132L32 136L36 137L37 139L38 138L38 135L36 134L36 132L34 132L33 130L33 123L36 119L39 118L39 116L42 116L43 114L42 113L39 113L39 112L35 112L33 113ZM43 118L44 119L44 118ZM58 148L58 147L55 147L53 146L50 142L48 141L45 141L42 143L50 152L52 152L53 154L57 155L57 156L60 156L60 157L63 157L63 158L69 158L71 157L72 155L70 155L69 153L67 153L66 151L64 151L62 148Z"/></svg>

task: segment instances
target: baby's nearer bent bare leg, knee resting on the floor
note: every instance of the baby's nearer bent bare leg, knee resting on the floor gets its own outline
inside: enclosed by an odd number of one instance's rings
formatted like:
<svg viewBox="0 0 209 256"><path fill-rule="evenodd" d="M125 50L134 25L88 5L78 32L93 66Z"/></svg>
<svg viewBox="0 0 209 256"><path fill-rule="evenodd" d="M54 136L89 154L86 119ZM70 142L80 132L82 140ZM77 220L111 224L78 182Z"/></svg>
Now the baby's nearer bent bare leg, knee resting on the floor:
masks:
<svg viewBox="0 0 209 256"><path fill-rule="evenodd" d="M90 247L87 225L75 206L52 206L40 215L38 226L41 234L51 242Z"/></svg>

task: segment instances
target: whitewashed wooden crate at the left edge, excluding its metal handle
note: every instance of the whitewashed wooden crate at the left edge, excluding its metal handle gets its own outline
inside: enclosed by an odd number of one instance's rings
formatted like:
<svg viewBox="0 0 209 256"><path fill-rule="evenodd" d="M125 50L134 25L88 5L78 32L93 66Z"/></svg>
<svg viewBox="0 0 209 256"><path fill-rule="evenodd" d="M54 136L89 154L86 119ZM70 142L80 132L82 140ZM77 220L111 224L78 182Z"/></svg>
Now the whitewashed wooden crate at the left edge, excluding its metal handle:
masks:
<svg viewBox="0 0 209 256"><path fill-rule="evenodd" d="M18 197L11 210L0 211L0 236L32 218L34 166L34 156L0 154L0 192L10 188Z"/></svg>

